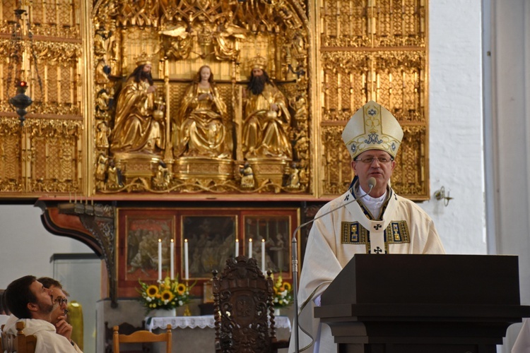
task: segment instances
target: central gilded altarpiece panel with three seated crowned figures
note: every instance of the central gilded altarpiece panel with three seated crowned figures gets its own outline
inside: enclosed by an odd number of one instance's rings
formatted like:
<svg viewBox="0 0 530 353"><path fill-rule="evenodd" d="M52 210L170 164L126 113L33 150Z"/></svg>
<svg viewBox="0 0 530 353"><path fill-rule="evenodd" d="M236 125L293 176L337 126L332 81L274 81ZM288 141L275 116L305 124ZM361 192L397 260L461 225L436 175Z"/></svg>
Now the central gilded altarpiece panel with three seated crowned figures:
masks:
<svg viewBox="0 0 530 353"><path fill-rule="evenodd" d="M92 20L96 193L310 192L310 27L302 1L108 0L95 3ZM124 133L130 124L121 121L131 115L120 98L130 73L146 63L153 115L133 118L143 121L140 133ZM213 78L207 88L204 66ZM251 111L254 68L268 74L264 85L274 93L268 107ZM201 102L206 95L213 103ZM153 148L131 137L143 133L155 136Z"/></svg>

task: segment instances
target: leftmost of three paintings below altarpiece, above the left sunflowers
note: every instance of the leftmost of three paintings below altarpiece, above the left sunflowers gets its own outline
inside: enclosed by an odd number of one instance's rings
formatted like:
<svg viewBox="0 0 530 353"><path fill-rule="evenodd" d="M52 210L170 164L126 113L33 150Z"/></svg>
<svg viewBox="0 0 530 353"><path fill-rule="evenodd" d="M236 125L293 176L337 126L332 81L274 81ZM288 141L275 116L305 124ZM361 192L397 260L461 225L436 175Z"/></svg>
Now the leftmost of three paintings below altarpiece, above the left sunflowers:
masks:
<svg viewBox="0 0 530 353"><path fill-rule="evenodd" d="M158 262L162 276L170 271L170 244L175 241L175 216L134 215L126 217L125 280L158 280ZM158 241L162 256L158 258Z"/></svg>

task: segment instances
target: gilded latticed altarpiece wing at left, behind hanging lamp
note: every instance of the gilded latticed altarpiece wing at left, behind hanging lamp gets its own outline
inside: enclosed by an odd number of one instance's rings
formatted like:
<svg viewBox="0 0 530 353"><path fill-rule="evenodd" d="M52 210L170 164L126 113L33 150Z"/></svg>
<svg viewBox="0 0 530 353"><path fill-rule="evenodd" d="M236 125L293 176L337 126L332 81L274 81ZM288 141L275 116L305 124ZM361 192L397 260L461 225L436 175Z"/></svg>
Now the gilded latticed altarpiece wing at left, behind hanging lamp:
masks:
<svg viewBox="0 0 530 353"><path fill-rule="evenodd" d="M82 193L81 1L0 6L0 192ZM14 11L25 10L16 28ZM18 30L19 40L13 40ZM8 103L16 78L33 106L23 126Z"/></svg>

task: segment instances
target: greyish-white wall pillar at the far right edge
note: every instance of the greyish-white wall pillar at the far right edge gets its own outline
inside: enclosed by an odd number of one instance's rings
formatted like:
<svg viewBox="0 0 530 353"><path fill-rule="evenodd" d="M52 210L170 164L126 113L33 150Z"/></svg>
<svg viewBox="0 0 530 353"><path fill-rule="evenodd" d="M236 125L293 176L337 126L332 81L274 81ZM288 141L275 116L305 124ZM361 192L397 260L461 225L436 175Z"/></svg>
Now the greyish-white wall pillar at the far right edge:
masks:
<svg viewBox="0 0 530 353"><path fill-rule="evenodd" d="M530 4L485 0L491 5L493 194L497 253L519 256L521 302L530 305ZM488 81L485 81L488 83ZM529 319L526 319L529 320ZM520 324L507 330L510 352ZM528 340L528 335L526 334ZM528 341L526 341L528 342Z"/></svg>

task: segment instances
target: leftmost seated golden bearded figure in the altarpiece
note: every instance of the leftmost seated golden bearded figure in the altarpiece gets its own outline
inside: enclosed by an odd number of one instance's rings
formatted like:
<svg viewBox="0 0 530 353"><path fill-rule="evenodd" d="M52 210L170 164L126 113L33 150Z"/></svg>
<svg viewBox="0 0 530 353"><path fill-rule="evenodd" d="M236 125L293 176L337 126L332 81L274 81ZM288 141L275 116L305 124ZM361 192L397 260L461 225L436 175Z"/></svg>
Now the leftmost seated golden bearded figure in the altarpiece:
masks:
<svg viewBox="0 0 530 353"><path fill-rule="evenodd" d="M163 114L155 107L151 61L138 65L119 93L110 151L158 155L165 147Z"/></svg>

